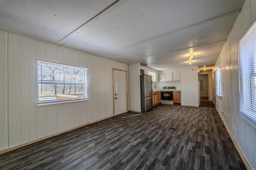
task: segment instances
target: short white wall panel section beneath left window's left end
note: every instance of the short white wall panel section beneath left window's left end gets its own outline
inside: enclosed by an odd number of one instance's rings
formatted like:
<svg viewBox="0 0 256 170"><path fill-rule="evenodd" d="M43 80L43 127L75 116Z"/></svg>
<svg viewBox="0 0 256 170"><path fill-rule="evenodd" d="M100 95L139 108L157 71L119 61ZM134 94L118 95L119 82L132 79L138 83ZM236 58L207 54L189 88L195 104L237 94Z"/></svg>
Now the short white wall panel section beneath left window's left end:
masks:
<svg viewBox="0 0 256 170"><path fill-rule="evenodd" d="M46 136L46 107L36 107L36 138Z"/></svg>

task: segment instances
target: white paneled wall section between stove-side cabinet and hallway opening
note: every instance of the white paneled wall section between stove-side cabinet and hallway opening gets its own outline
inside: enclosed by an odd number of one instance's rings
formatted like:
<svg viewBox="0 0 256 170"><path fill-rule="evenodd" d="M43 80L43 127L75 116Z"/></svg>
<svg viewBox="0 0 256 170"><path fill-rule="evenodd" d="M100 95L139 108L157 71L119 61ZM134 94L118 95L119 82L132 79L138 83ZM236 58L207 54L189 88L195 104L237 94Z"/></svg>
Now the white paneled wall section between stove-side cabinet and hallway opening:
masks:
<svg viewBox="0 0 256 170"><path fill-rule="evenodd" d="M181 105L199 106L198 67L180 68Z"/></svg>

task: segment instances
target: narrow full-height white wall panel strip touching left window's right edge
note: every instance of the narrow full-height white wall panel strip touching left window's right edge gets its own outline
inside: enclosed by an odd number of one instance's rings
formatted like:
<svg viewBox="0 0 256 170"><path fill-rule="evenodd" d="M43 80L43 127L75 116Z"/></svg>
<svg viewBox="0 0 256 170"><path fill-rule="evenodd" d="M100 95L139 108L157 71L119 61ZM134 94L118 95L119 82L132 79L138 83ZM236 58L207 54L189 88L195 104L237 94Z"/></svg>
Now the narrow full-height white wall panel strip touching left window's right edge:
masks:
<svg viewBox="0 0 256 170"><path fill-rule="evenodd" d="M87 89L88 89L88 101L87 101L87 120L92 121L92 55L87 54L86 65L88 71Z"/></svg>

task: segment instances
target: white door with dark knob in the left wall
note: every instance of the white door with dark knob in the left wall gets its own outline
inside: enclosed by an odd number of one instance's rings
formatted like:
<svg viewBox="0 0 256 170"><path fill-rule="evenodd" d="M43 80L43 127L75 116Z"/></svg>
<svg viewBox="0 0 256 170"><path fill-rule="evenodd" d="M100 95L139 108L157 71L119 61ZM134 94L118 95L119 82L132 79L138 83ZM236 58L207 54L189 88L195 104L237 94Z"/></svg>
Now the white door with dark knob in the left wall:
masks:
<svg viewBox="0 0 256 170"><path fill-rule="evenodd" d="M115 115L127 112L126 72L114 70Z"/></svg>

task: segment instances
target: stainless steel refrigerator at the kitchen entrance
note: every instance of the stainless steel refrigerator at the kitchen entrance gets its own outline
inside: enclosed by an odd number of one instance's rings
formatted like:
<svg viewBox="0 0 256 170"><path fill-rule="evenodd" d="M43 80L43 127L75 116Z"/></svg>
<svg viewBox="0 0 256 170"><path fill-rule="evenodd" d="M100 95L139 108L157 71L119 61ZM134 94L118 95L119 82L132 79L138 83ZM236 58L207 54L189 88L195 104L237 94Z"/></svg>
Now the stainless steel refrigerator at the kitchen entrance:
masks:
<svg viewBox="0 0 256 170"><path fill-rule="evenodd" d="M152 76L142 74L140 75L140 93L141 93L141 111L147 112L153 108L152 101Z"/></svg>

